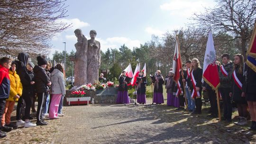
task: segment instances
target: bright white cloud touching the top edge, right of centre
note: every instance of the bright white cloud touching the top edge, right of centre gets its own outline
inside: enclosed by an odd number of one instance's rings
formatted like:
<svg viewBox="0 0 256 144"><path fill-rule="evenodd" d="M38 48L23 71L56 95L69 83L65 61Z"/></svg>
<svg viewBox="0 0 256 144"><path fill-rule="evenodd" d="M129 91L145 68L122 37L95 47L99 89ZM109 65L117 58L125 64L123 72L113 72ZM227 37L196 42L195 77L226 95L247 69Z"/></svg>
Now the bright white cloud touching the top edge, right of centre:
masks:
<svg viewBox="0 0 256 144"><path fill-rule="evenodd" d="M161 5L160 9L169 11L171 15L189 17L208 6L210 3L203 0L171 0Z"/></svg>

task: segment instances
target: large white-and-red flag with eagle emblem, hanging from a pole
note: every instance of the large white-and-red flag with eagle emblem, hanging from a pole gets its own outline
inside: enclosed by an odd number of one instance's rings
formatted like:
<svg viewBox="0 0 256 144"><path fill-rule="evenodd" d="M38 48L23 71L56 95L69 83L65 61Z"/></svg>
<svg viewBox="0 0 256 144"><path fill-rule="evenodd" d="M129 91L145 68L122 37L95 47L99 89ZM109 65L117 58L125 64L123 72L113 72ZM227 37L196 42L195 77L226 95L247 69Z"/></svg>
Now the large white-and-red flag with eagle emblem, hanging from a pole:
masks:
<svg viewBox="0 0 256 144"><path fill-rule="evenodd" d="M209 31L208 41L206 45L204 61L203 61L203 79L212 89L217 90L219 87L219 73L216 64L216 54L213 45L213 37Z"/></svg>

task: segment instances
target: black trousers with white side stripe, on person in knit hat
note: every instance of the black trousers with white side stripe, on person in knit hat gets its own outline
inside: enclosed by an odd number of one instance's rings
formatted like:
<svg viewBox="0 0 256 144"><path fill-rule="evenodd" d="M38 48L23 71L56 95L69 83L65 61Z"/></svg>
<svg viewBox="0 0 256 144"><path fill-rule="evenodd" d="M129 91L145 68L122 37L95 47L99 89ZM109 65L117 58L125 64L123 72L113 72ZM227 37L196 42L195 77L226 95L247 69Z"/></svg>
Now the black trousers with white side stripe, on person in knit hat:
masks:
<svg viewBox="0 0 256 144"><path fill-rule="evenodd" d="M37 93L37 99L38 99L38 106L37 106L37 122L42 121L43 117L43 110L45 107L45 101L46 101L47 93Z"/></svg>

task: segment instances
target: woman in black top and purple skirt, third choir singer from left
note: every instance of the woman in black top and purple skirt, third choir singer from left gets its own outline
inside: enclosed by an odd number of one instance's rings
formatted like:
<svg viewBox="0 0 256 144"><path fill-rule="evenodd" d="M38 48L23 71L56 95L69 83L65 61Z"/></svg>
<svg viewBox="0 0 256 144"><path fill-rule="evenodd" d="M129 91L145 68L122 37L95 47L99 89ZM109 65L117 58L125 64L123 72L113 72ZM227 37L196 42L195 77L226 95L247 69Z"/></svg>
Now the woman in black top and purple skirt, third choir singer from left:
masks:
<svg viewBox="0 0 256 144"><path fill-rule="evenodd" d="M153 103L162 104L164 103L163 84L165 83L165 81L160 70L156 71L155 81L153 81L153 83L154 83Z"/></svg>

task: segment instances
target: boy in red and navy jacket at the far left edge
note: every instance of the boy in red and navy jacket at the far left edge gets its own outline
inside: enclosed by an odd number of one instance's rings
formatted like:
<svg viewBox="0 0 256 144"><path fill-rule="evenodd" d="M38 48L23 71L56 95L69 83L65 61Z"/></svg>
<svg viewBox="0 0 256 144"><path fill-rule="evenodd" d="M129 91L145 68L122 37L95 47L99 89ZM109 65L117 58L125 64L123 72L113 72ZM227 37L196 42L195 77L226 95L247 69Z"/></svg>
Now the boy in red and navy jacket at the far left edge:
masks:
<svg viewBox="0 0 256 144"><path fill-rule="evenodd" d="M10 93L10 77L9 69L11 67L11 59L3 57L0 59L0 119L3 117L5 108L5 99L9 98ZM1 126L1 130L10 131L12 127ZM0 138L5 137L6 133L0 130Z"/></svg>

